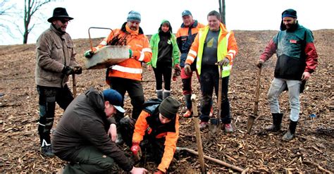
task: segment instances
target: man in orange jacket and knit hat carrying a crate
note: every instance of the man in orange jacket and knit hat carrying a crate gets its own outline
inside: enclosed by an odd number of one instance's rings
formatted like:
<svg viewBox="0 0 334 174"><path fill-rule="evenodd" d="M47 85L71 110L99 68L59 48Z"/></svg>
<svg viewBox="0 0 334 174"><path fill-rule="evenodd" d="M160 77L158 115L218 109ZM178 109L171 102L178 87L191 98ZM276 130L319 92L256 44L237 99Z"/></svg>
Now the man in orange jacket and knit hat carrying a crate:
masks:
<svg viewBox="0 0 334 174"><path fill-rule="evenodd" d="M132 118L137 119L144 104L144 92L142 89L142 63L151 61L152 51L149 39L144 35L140 27L141 15L137 11L128 13L127 22L120 29L113 30L92 51L86 51L87 58L92 57L94 51L106 45L128 45L130 46L130 58L114 66L107 68L106 83L111 89L118 91L123 99L128 92L132 108ZM124 101L123 101L124 102ZM122 102L122 106L124 105ZM116 122L123 118L124 114L116 113ZM120 136L116 142L122 142Z"/></svg>

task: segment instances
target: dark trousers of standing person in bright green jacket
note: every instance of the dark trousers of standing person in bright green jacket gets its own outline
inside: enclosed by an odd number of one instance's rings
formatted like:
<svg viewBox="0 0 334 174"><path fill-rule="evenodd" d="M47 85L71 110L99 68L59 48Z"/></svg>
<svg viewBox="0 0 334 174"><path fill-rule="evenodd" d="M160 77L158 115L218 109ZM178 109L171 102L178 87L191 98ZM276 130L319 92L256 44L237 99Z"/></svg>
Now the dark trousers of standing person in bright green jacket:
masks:
<svg viewBox="0 0 334 174"><path fill-rule="evenodd" d="M153 68L156 77L156 90L162 89L162 82L165 84L165 89L171 90L172 63L156 63L156 68ZM162 81L163 78L163 81Z"/></svg>

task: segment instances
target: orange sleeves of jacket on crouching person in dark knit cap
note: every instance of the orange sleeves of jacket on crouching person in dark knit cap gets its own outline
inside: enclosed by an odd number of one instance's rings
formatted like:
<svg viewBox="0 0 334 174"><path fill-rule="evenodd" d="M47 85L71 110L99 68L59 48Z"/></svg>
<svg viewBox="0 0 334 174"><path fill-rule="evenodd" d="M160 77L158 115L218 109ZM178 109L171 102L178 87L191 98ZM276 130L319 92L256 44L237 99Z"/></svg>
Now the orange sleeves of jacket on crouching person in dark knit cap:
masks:
<svg viewBox="0 0 334 174"><path fill-rule="evenodd" d="M151 116L147 111L142 111L140 116L138 117L136 124L135 124L135 131L133 132L132 142L140 143L145 135L145 132L152 132L149 131L151 128L147 123L146 118ZM179 116L178 114L175 117L175 132L161 132L159 135L156 135L156 138L165 137L165 149L163 151L163 156L161 159L161 163L158 166L158 169L166 173L171 161L173 160L173 156L176 150L176 142L178 141L178 134L179 134Z"/></svg>

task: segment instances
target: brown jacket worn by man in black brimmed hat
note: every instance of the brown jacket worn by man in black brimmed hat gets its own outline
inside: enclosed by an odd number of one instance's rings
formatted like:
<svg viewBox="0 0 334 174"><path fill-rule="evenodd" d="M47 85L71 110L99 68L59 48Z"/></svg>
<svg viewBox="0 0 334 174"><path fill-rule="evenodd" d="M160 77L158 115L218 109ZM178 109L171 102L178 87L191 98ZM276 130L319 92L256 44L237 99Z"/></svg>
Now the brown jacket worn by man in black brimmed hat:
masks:
<svg viewBox="0 0 334 174"><path fill-rule="evenodd" d="M61 73L64 66L77 66L72 39L50 25L39 36L36 43L36 85L44 87L63 87L68 76Z"/></svg>

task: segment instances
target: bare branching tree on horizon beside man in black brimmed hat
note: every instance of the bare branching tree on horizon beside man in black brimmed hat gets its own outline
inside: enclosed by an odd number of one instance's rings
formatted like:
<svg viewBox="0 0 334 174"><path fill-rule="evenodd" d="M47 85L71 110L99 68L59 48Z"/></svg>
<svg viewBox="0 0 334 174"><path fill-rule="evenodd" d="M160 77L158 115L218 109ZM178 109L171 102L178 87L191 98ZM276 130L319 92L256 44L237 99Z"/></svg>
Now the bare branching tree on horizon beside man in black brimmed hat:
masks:
<svg viewBox="0 0 334 174"><path fill-rule="evenodd" d="M27 44L28 35L31 32L32 28L35 27L35 24L29 27L32 15L34 15L35 12L38 11L39 8L41 8L44 4L48 4L51 1L52 0L44 0L44 1L25 0L25 13L24 13L25 31L23 32L23 44Z"/></svg>

